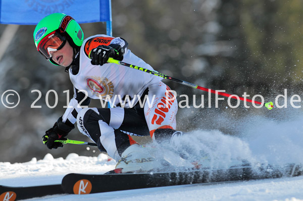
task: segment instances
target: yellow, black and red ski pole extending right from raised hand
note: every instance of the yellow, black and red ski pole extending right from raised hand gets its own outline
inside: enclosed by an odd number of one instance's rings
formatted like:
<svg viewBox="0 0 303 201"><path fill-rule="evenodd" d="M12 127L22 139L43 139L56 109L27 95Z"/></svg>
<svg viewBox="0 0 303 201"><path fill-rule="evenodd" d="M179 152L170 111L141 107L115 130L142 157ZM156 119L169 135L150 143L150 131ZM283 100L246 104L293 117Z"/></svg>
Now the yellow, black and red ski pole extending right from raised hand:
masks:
<svg viewBox="0 0 303 201"><path fill-rule="evenodd" d="M132 64L129 64L129 63L125 63L125 62L122 62L122 61L119 61L119 60L116 60L114 58L109 58L108 59L108 62L109 63L117 63L117 64L120 64L120 65L124 65L124 66L127 66L129 68L132 68L132 69L136 69L136 70L139 70L139 71L143 71L143 72L146 72L146 73L149 73L149 74L153 74L155 76L159 76L161 78L164 78L164 79L168 79L168 80L171 80L171 81L174 81L174 82L177 82L179 84L182 84L182 85L185 85L185 86L188 86L188 87L192 87L194 89L199 89L199 90L203 90L203 91L206 91L206 92L211 92L213 94L219 94L221 96L226 96L226 97L230 97L230 98L233 98L233 99L237 99L237 97L235 97L234 95L231 95L231 94L227 94L227 93L224 93L224 92L217 92L215 90L212 90L212 89L208 89L208 88L205 88L205 87L200 87L198 85L195 85L195 84L192 84L192 83L189 83L189 82L186 82L186 81L182 81L182 80L179 80L179 79L176 79L176 78L173 78L173 77L170 77L170 76L166 76L162 73L157 73L155 71L150 71L148 69L144 69L144 68L141 68L139 66L136 66L136 65L132 65ZM251 103L257 103L259 105L262 105L262 102L259 102L259 101L253 101L253 100L250 100L250 99L247 99L247 98L242 98L242 97L238 97L240 100L242 101L248 101L248 102L251 102ZM274 107L274 104L273 102L268 102L268 103L265 103L264 104L265 107L269 110L273 109Z"/></svg>

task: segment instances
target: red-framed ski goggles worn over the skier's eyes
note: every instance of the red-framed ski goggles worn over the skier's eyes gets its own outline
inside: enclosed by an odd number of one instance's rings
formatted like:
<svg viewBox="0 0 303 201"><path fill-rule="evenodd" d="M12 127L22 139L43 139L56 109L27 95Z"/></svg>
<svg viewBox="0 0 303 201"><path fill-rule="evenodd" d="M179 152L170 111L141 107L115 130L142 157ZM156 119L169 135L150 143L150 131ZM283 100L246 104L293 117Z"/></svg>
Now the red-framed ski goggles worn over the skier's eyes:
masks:
<svg viewBox="0 0 303 201"><path fill-rule="evenodd" d="M37 50L49 60L53 55L49 52L61 49L66 43L66 38L53 31L45 36L38 44Z"/></svg>

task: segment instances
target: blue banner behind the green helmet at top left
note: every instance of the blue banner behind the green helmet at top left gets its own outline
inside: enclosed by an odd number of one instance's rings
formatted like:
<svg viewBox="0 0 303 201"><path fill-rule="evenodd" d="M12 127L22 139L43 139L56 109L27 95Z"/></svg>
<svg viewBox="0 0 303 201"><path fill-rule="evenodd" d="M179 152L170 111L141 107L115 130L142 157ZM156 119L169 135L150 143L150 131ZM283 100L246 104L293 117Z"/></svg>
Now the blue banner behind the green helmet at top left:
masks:
<svg viewBox="0 0 303 201"><path fill-rule="evenodd" d="M52 13L65 13L78 23L111 22L111 10L111 0L0 0L0 23L36 25Z"/></svg>

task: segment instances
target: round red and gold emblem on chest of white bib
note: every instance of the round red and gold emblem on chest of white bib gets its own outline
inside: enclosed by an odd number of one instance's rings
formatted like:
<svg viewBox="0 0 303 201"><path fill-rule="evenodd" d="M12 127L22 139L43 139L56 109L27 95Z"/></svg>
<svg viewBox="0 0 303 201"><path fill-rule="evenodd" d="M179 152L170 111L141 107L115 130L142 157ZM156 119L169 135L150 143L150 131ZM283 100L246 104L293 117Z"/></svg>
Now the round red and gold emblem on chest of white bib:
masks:
<svg viewBox="0 0 303 201"><path fill-rule="evenodd" d="M88 77L86 78L86 85L92 91L93 94L97 96L101 96L102 98L106 98L107 95L110 98L113 97L114 94L114 85L107 78L100 77Z"/></svg>

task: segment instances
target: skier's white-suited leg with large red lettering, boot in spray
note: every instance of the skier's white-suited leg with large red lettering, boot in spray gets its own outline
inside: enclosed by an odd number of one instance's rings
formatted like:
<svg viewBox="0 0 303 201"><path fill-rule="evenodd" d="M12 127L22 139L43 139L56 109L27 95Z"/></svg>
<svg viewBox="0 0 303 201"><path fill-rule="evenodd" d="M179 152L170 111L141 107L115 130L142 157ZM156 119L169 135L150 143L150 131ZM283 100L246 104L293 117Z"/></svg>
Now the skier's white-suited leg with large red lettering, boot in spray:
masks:
<svg viewBox="0 0 303 201"><path fill-rule="evenodd" d="M190 155L190 145L183 143L183 132L176 130L178 102L175 92L162 82L149 86L148 90L149 100L154 96L154 101L153 104L145 102L145 119L151 138L165 149L158 157L162 155L173 166L192 167L189 161L183 160Z"/></svg>

